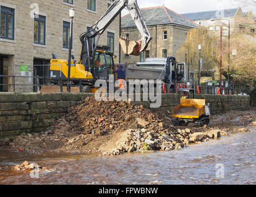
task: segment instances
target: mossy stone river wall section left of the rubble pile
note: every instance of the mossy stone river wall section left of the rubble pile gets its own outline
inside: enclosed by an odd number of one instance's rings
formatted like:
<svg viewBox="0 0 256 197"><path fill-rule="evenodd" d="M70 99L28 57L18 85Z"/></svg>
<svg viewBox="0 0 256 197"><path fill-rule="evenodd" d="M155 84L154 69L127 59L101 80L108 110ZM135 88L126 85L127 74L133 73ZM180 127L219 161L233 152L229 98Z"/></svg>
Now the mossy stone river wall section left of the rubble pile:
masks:
<svg viewBox="0 0 256 197"><path fill-rule="evenodd" d="M0 138L44 131L54 119L67 113L69 107L88 96L0 93Z"/></svg>

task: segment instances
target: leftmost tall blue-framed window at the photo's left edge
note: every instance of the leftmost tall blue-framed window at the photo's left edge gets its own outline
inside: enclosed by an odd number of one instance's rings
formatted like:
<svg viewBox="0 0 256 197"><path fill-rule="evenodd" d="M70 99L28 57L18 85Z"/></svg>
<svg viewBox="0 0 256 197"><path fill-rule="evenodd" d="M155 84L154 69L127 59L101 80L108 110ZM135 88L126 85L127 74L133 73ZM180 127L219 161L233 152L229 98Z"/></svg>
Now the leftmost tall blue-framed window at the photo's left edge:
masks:
<svg viewBox="0 0 256 197"><path fill-rule="evenodd" d="M0 38L14 39L14 9L1 6Z"/></svg>

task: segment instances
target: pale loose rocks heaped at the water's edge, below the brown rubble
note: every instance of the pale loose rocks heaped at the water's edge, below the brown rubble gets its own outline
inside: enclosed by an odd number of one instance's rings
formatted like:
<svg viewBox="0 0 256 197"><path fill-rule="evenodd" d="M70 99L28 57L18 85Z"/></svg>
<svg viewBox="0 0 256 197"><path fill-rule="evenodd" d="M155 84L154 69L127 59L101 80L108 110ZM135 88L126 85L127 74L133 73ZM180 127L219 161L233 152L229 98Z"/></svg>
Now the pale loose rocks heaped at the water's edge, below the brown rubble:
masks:
<svg viewBox="0 0 256 197"><path fill-rule="evenodd" d="M246 132L246 131L244 131ZM120 155L124 152L144 152L150 150L179 150L189 143L200 143L209 139L217 139L228 132L212 129L207 132L192 132L189 128L177 131L148 131L147 129L129 129L116 142L116 148L103 155Z"/></svg>

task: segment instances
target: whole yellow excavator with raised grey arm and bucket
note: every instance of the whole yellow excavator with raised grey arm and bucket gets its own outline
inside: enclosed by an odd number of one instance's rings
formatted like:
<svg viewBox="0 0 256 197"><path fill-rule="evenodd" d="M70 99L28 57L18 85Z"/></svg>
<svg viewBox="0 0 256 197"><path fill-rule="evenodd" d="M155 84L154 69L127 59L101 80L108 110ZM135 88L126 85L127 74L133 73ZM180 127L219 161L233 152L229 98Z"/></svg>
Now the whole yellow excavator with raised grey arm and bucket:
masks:
<svg viewBox="0 0 256 197"><path fill-rule="evenodd" d="M140 31L141 39L139 41L129 41L126 38L119 38L121 49L125 54L139 56L147 49L151 36L147 25L142 18L137 0L116 0L105 14L90 28L88 32L80 35L82 42L82 50L80 60L74 60L70 65L70 82L74 85L82 83L82 92L96 92L95 82L97 79L105 79L108 81L109 74L113 74L116 70L116 56L109 51L109 46L99 46L98 41L101 34L108 28L117 15L126 8L130 15L134 18L134 22ZM93 38L95 44L93 43ZM50 65L50 79L54 84L60 81L66 82L68 78L68 61L61 60L53 54Z"/></svg>

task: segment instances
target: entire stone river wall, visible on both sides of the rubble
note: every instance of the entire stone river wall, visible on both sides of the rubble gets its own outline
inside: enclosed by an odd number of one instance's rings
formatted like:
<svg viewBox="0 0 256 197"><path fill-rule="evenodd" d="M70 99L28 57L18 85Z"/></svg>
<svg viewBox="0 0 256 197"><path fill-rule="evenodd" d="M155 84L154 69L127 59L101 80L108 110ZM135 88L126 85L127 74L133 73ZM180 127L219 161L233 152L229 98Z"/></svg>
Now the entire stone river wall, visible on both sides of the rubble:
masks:
<svg viewBox="0 0 256 197"><path fill-rule="evenodd" d="M29 132L45 131L56 118L67 113L68 108L93 94L18 94L0 93L0 138ZM206 98L211 105L211 113L229 110L247 110L250 97L238 95L196 95ZM150 102L134 102L150 107ZM162 95L160 108L152 111L171 111L179 103L179 95Z"/></svg>

